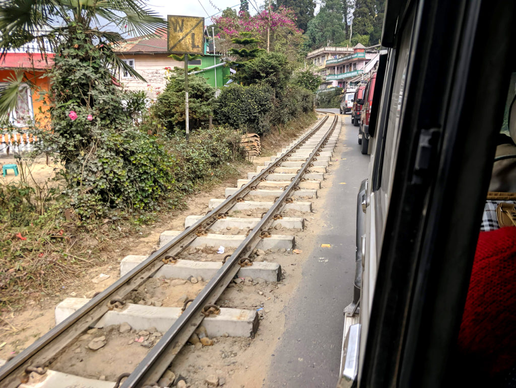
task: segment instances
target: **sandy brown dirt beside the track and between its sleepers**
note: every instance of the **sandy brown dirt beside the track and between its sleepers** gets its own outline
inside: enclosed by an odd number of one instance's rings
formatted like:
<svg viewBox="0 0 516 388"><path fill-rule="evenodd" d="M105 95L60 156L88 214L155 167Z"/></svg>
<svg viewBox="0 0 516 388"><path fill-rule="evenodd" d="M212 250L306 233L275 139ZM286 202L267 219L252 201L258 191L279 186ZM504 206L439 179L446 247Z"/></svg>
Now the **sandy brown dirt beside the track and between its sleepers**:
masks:
<svg viewBox="0 0 516 388"><path fill-rule="evenodd" d="M341 133L341 138L343 134ZM342 145L337 142L334 154L340 154ZM255 158L254 165L263 165L270 157ZM255 309L260 319L260 327L254 338L215 337L213 344L199 346L187 344L176 357L171 367L175 376L182 376L191 388L206 387L206 379L216 377L219 385L229 388L259 388L263 386L268 367L275 358L274 349L282 337L285 327L284 306L295 294L303 281L303 266L310 257L316 238L327 225L321 221L321 210L325 207L326 194L333 184L332 172L340 160L329 163L322 188L317 190L317 198L297 197L297 201L312 202L312 213L288 210L282 213L287 217L304 218L305 228L286 229L281 225L271 228L273 235L295 235L295 250L266 252L256 261L279 263L282 280L268 283L261 279L237 278L223 292L217 304L221 307ZM249 166L242 171L240 179L247 178ZM236 179L223 182L213 189L198 193L188 201L188 208L164 215L153 225L142 227L139 236L126 237L114 242L103 254L106 265L85 271L84 276L68 284L61 292L42 298L39 302L28 301L25 309L3 314L0 317L0 359L8 359L33 343L39 336L54 326L54 307L67 297L91 298L97 291L104 290L119 277L120 261L126 255L149 255L158 247L160 234L165 230L183 230L187 215L204 215L209 199L224 198L224 189L236 187ZM273 201L271 197L246 197L246 200ZM230 211L229 216L237 218L260 218L264 209ZM208 230L208 232L211 232ZM244 234L245 230L224 228L218 234ZM217 254L213 247L201 246L186 249L177 258L199 261L220 261L234 249L226 249ZM105 280L95 283L101 274L108 275ZM197 296L207 280L197 278L196 282L174 279L150 278L126 298L129 303L182 307L186 299ZM309 281L309 280L304 280ZM180 284L181 283L181 284ZM307 317L311 319L311 317ZM152 328L151 328L152 329ZM143 332L143 333L142 333ZM103 329L92 329L79 337L76 343L63 351L50 365L52 369L80 376L115 381L124 371L132 371L157 343L163 333L156 330L121 332L120 325ZM90 344L98 338L105 342L98 350ZM140 339L143 338L141 341ZM299 341L305 338L299 338ZM113 354L117 354L116 359ZM116 360L116 362L114 362ZM102 374L99 373L102 370Z"/></svg>

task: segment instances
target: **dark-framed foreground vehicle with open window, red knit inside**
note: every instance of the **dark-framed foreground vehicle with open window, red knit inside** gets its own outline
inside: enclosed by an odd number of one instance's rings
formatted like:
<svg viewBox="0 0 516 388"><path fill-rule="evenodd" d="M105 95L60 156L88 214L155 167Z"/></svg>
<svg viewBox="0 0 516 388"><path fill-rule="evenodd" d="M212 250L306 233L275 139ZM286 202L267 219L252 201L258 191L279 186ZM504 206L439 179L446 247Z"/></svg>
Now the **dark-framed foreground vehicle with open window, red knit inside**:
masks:
<svg viewBox="0 0 516 388"><path fill-rule="evenodd" d="M516 2L386 2L338 388L514 386L516 189L488 190L516 156L494 158L516 149L515 19ZM480 231L487 213L509 226Z"/></svg>

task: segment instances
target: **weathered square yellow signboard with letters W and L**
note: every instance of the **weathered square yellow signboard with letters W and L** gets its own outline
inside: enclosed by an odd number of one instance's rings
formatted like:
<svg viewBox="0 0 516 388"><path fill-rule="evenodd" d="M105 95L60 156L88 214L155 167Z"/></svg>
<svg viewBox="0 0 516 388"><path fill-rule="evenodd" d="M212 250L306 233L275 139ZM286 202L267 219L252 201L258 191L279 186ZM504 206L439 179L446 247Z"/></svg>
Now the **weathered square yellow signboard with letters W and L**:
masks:
<svg viewBox="0 0 516 388"><path fill-rule="evenodd" d="M168 15L168 51L204 54L204 18Z"/></svg>

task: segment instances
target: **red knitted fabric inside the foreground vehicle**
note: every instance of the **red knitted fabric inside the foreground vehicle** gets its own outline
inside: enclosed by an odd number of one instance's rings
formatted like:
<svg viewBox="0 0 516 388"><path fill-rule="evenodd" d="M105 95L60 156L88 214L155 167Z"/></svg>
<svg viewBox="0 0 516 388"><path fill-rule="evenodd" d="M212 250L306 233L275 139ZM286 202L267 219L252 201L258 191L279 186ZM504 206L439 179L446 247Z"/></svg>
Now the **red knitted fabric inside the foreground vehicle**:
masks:
<svg viewBox="0 0 516 388"><path fill-rule="evenodd" d="M458 345L472 368L491 376L515 363L515 282L516 227L481 231Z"/></svg>

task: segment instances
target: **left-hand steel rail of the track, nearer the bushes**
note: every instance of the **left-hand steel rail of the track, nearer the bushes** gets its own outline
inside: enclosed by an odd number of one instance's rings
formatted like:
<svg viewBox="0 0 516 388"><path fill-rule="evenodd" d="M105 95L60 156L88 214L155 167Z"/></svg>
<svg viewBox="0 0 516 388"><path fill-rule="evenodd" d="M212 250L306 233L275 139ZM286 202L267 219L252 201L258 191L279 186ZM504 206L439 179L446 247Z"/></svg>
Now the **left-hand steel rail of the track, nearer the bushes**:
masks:
<svg viewBox="0 0 516 388"><path fill-rule="evenodd" d="M177 255L184 250L188 244L197 238L197 231L200 229L208 229L210 225L217 221L217 215L219 213L230 210L238 198L247 195L252 190L251 187L253 185L260 182L261 178L269 175L291 152L295 151L296 148L299 148L301 144L305 143L307 139L315 134L325 124L328 117L329 116L326 116L324 119L320 120L320 122L318 122L307 135L303 136L292 146L291 149L284 152L282 156L262 170L261 173L257 174L233 195L228 197L222 204L207 213L195 224L186 228L181 234L163 247L153 252L137 267L121 276L115 283L97 294L84 306L77 309L72 315L37 339L20 354L14 356L14 358L9 360L4 366L0 367L0 386L2 388L16 388L20 384L25 374L25 369L28 366L44 365L55 358L59 351L65 348L74 338L87 330L93 322L99 320L109 311L108 305L111 300L123 299L129 292L141 285L165 264L162 258L166 258L168 255Z"/></svg>

